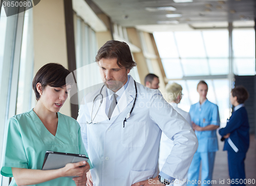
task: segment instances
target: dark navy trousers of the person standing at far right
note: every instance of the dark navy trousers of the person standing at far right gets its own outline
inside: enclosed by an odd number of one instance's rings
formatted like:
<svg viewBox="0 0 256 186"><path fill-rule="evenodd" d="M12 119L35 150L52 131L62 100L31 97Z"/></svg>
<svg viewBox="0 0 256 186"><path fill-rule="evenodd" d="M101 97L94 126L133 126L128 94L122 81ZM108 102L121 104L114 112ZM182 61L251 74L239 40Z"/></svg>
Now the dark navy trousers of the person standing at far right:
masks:
<svg viewBox="0 0 256 186"><path fill-rule="evenodd" d="M245 155L246 155L246 152L227 151L228 170L229 170L231 185L245 185L244 182L242 182L242 180L245 179L245 168L244 168ZM236 179L238 180L239 183L238 182L236 183Z"/></svg>

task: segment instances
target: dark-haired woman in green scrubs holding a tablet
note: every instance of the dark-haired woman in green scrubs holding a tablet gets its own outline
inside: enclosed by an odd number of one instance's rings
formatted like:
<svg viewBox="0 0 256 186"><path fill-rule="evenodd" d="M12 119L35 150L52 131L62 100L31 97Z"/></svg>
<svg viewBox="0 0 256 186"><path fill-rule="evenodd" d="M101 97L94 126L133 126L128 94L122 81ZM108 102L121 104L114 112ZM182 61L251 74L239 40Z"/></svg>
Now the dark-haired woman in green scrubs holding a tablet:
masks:
<svg viewBox="0 0 256 186"><path fill-rule="evenodd" d="M90 165L85 161L41 170L47 150L87 155L79 124L59 113L71 89L72 82L66 82L69 73L56 63L40 68L32 85L34 109L7 121L1 174L14 177L10 185L86 185Z"/></svg>

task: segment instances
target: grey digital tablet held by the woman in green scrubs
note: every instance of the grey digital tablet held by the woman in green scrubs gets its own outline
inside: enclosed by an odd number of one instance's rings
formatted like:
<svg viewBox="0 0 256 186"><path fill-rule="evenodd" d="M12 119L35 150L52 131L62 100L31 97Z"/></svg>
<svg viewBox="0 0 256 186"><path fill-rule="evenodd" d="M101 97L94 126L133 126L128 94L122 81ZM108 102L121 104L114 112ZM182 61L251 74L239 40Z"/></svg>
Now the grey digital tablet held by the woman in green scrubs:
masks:
<svg viewBox="0 0 256 186"><path fill-rule="evenodd" d="M69 163L88 161L89 158L84 154L71 154L63 152L46 151L45 160L42 164L42 170L60 169ZM84 165L85 166L85 165ZM69 178L78 176L69 176Z"/></svg>

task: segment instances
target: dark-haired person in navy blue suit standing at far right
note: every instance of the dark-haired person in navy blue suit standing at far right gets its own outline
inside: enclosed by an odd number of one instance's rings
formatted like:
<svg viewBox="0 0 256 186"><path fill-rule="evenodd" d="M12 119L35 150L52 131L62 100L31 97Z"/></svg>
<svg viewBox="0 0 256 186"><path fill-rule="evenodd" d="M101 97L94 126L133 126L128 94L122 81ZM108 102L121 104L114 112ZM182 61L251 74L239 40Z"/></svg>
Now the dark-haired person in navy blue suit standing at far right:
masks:
<svg viewBox="0 0 256 186"><path fill-rule="evenodd" d="M231 90L230 102L234 110L225 128L219 130L219 134L225 138L224 149L227 150L228 170L230 179L234 181L231 185L245 185L244 160L249 148L249 122L244 102L248 99L247 90L238 86ZM241 179L242 184L241 184ZM237 183L236 181L239 181Z"/></svg>

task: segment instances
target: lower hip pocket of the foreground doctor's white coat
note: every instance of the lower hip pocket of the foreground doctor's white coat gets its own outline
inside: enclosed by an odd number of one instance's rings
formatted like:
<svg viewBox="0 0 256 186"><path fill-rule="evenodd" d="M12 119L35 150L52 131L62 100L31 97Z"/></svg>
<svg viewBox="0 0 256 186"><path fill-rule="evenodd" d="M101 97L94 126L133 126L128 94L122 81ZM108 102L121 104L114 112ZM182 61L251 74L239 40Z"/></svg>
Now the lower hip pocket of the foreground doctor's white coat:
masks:
<svg viewBox="0 0 256 186"><path fill-rule="evenodd" d="M130 183L134 184L139 181L144 181L150 178L153 178L155 173L155 169L151 169L148 171L132 171L130 172Z"/></svg>

